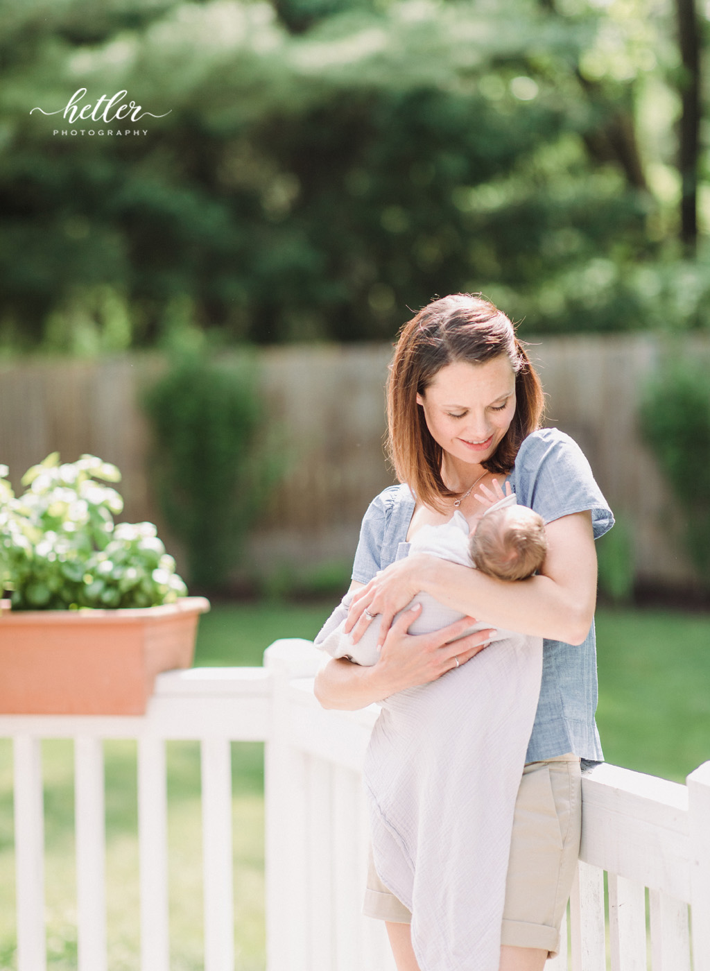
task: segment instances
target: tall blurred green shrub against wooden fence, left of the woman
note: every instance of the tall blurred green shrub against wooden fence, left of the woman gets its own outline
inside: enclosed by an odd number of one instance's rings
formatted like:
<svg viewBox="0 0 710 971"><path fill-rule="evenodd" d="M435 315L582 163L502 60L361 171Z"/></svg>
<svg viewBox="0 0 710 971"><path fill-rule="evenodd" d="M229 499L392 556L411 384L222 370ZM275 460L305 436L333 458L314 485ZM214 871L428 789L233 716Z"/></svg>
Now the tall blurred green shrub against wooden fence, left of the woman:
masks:
<svg viewBox="0 0 710 971"><path fill-rule="evenodd" d="M219 589L239 562L254 514L276 481L254 361L193 347L146 393L153 472L170 529L186 548L190 582Z"/></svg>

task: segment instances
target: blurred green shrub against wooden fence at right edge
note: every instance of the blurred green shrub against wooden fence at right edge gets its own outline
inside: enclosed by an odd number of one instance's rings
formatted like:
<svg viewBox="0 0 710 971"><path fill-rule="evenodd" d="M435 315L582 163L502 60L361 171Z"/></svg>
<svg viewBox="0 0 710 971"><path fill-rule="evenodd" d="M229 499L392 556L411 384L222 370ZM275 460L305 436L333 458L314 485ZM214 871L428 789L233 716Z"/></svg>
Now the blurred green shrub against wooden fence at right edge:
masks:
<svg viewBox="0 0 710 971"><path fill-rule="evenodd" d="M641 429L686 513L686 547L710 588L710 385L697 362L669 360L647 390Z"/></svg>

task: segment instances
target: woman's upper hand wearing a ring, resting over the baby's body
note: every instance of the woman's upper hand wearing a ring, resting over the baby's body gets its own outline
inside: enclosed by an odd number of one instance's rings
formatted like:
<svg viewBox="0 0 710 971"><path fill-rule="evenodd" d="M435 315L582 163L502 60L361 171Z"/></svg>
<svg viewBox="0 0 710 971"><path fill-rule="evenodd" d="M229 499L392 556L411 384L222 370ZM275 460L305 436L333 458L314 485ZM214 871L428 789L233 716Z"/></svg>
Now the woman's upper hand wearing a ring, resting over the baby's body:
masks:
<svg viewBox="0 0 710 971"><path fill-rule="evenodd" d="M406 556L396 563L390 563L389 567L376 574L369 584L357 590L345 624L345 633L352 633L355 644L370 623L380 614L382 623L378 647L382 647L394 615L403 610L419 593L417 575L421 575L425 562L433 558L425 553Z"/></svg>

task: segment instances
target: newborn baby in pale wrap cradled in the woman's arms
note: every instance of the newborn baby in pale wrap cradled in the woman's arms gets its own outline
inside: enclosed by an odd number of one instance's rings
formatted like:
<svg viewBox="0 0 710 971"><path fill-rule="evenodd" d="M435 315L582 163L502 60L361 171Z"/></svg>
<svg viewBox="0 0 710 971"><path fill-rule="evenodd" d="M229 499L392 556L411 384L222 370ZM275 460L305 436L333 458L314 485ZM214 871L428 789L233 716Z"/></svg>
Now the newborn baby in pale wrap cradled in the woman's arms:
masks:
<svg viewBox="0 0 710 971"><path fill-rule="evenodd" d="M531 509L518 506L509 485L506 493L497 484L495 487L495 493L477 494L476 498L488 508L474 520L470 532L465 517L456 511L448 522L418 530L409 544L409 552L439 556L499 580L524 580L539 570L547 552L543 519ZM496 500L494 495L500 498ZM352 599L352 593L346 594L323 624L315 644L332 657L347 657L355 664L371 666L380 656L377 647L380 622L375 619L354 644L343 630ZM422 612L410 626L410 634L430 633L461 617L427 593L419 593L405 610L417 603L422 604Z"/></svg>

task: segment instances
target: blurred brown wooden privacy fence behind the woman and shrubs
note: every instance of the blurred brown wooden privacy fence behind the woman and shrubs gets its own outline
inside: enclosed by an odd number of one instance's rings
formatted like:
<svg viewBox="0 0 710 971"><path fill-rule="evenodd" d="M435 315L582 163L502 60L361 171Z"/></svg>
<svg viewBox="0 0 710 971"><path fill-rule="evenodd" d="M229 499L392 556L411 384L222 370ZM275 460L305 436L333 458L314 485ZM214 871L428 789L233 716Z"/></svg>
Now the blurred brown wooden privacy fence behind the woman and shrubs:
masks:
<svg viewBox="0 0 710 971"><path fill-rule="evenodd" d="M636 427L643 386L669 347L649 334L593 335L545 338L530 352L548 394L548 424L569 432L588 454L633 538L637 575L680 585L693 576L680 541L682 517ZM710 339L675 338L674 350L710 360ZM392 482L383 452L390 353L389 345L258 352L286 474L254 524L250 568L268 573L352 559L368 502ZM151 441L138 403L164 367L152 353L0 365L0 461L16 485L49 452L66 460L93 452L123 472L125 518L150 519L167 535L149 485Z"/></svg>

